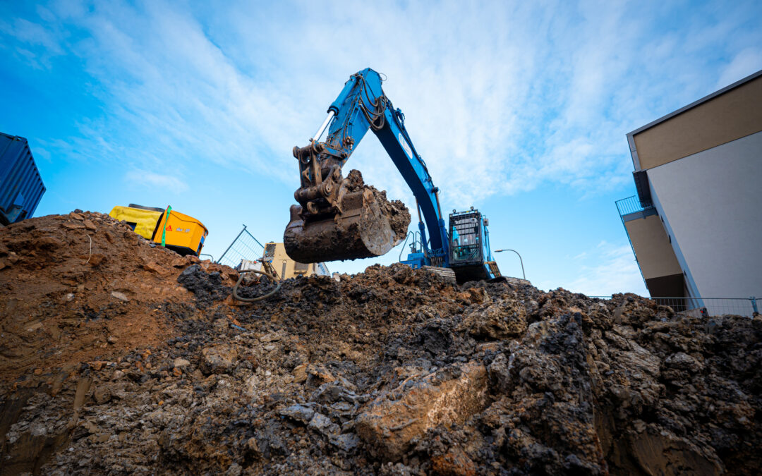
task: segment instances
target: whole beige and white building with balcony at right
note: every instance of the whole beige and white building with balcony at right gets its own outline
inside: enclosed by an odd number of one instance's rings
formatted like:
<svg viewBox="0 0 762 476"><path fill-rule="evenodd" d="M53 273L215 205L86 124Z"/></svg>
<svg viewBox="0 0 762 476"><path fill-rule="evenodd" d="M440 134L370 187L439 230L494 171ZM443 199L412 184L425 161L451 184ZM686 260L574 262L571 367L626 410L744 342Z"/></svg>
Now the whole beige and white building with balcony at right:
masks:
<svg viewBox="0 0 762 476"><path fill-rule="evenodd" d="M651 296L762 297L762 71L627 141L638 195L616 205Z"/></svg>

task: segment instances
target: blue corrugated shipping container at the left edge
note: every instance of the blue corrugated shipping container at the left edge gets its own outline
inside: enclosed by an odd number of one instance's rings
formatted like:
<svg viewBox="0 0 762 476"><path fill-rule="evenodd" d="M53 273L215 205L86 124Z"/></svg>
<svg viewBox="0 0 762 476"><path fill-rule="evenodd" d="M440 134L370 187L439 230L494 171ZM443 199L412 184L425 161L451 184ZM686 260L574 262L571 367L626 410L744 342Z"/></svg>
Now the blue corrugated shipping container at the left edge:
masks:
<svg viewBox="0 0 762 476"><path fill-rule="evenodd" d="M45 193L27 139L0 133L0 223L30 218Z"/></svg>

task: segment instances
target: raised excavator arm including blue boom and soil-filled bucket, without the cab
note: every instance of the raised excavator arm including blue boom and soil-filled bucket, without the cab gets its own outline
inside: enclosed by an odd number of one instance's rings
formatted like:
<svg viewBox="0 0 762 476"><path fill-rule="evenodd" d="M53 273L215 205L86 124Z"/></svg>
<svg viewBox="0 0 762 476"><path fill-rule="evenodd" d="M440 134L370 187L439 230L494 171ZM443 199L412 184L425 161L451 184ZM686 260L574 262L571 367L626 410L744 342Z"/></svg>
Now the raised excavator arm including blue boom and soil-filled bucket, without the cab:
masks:
<svg viewBox="0 0 762 476"><path fill-rule="evenodd" d="M294 193L299 205L291 207L283 242L294 260L311 263L380 256L405 238L406 225L402 234L392 229L389 207L379 203L367 187L358 187L354 177L342 174L370 129L415 195L427 262L447 266L449 244L439 189L412 145L405 116L392 106L381 83L373 69L352 75L309 144L293 149L299 161L300 187ZM320 142L325 129L328 135Z"/></svg>

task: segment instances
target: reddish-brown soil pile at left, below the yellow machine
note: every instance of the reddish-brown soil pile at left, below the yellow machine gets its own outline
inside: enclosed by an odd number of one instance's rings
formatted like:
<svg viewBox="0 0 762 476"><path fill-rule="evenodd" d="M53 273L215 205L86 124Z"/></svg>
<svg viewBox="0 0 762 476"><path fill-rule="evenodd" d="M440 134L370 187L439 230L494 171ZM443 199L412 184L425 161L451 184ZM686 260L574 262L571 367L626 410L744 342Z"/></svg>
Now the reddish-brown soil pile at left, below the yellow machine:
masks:
<svg viewBox="0 0 762 476"><path fill-rule="evenodd" d="M159 306L192 301L166 278L187 264L100 213L0 228L0 381L166 340Z"/></svg>

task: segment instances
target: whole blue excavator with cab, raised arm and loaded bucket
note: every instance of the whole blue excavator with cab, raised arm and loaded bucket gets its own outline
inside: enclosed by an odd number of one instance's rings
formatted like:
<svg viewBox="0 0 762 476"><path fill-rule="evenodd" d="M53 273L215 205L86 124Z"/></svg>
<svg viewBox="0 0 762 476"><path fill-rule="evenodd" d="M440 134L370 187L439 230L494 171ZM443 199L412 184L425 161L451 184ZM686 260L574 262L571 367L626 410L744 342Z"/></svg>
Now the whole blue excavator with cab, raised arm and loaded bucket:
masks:
<svg viewBox="0 0 762 476"><path fill-rule="evenodd" d="M287 254L300 263L353 260L381 256L412 237L410 253L401 260L410 267L461 283L501 278L489 248L488 219L479 210L453 210L445 225L439 188L413 146L405 115L392 106L381 83L370 68L351 75L309 144L293 148L299 161L300 187L294 192L299 205L291 206L283 233ZM386 194L365 187L357 171L342 174L368 129L415 196L418 232L408 234L409 215L399 210L401 203L390 206Z"/></svg>

